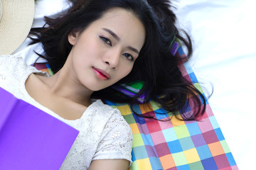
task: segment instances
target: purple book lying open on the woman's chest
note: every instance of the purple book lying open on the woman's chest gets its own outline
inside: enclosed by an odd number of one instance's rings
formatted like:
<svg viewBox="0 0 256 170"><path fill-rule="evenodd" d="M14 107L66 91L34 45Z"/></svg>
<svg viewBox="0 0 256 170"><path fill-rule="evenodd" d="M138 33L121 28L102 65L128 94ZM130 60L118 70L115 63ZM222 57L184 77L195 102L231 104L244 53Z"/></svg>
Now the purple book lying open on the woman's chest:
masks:
<svg viewBox="0 0 256 170"><path fill-rule="evenodd" d="M0 169L60 169L78 133L0 88Z"/></svg>

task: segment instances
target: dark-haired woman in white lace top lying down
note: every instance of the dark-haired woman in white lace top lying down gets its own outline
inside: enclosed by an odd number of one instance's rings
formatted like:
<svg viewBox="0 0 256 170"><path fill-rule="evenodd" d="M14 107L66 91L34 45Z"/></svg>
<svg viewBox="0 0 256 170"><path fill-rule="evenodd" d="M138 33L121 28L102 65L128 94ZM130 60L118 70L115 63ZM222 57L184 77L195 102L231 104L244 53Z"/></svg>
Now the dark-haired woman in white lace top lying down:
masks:
<svg viewBox="0 0 256 170"><path fill-rule="evenodd" d="M80 130L61 169L127 169L131 162L129 125L119 111L92 98L134 103L143 94L177 111L192 95L201 106L200 91L178 69L184 59L170 52L175 38L189 54L191 43L179 34L169 7L164 0L74 1L68 13L46 18L45 28L31 32L33 43L43 45L38 55L48 60L52 77L19 57L0 57L2 88ZM134 81L144 86L133 98L112 89Z"/></svg>

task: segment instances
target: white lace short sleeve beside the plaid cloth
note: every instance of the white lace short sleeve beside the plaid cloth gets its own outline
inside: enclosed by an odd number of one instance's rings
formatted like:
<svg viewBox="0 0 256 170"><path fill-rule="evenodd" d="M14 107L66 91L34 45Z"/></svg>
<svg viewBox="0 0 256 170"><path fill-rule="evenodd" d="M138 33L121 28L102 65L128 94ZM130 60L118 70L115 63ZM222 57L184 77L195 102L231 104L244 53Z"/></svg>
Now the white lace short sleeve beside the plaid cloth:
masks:
<svg viewBox="0 0 256 170"><path fill-rule="evenodd" d="M102 101L97 103L112 111L112 114L103 128L93 159L127 159L132 163L132 129L117 108L112 108Z"/></svg>

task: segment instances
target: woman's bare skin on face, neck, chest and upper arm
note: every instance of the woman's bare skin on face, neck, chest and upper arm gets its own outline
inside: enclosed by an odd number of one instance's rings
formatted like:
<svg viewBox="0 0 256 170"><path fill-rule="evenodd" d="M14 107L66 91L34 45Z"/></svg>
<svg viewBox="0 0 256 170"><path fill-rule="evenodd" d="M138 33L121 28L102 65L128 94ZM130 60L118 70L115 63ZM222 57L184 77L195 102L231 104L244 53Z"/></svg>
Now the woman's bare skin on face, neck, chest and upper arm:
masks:
<svg viewBox="0 0 256 170"><path fill-rule="evenodd" d="M90 106L93 91L111 86L131 72L144 39L144 26L134 14L113 9L82 33L70 33L73 48L63 68L53 77L31 74L26 90L60 117L79 119ZM109 77L99 74L99 69ZM122 170L128 166L125 159L104 159L92 161L89 169Z"/></svg>

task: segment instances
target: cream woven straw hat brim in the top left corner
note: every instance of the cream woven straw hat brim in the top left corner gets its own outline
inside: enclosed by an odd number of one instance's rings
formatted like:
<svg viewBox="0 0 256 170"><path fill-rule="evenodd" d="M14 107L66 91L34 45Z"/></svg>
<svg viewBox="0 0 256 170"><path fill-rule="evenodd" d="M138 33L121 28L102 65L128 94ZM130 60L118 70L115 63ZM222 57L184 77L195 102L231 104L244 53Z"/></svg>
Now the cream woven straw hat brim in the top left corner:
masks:
<svg viewBox="0 0 256 170"><path fill-rule="evenodd" d="M34 8L34 0L0 0L0 55L10 55L26 39Z"/></svg>

